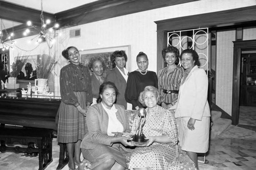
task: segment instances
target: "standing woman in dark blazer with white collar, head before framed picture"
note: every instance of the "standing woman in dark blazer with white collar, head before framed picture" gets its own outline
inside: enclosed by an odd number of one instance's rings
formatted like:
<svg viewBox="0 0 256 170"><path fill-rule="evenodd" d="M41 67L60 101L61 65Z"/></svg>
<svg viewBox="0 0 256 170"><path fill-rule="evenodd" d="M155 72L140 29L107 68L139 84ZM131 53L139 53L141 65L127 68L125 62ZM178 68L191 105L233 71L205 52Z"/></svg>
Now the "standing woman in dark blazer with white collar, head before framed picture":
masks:
<svg viewBox="0 0 256 170"><path fill-rule="evenodd" d="M132 109L132 106L124 99L124 92L126 88L126 82L128 79L129 71L125 68L127 62L127 55L125 51L115 51L111 55L111 61L115 68L111 69L106 75L106 81L113 82L119 94L116 98L116 104L123 105L124 109Z"/></svg>

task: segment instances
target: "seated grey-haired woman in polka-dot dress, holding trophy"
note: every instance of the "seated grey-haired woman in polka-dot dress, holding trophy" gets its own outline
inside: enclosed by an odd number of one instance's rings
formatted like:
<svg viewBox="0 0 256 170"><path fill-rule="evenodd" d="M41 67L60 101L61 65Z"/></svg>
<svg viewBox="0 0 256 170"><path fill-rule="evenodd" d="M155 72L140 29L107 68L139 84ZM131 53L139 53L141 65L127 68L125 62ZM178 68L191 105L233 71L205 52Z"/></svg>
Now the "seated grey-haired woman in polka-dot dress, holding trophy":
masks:
<svg viewBox="0 0 256 170"><path fill-rule="evenodd" d="M179 169L178 134L174 115L158 106L160 94L156 87L146 86L140 93L139 102L147 106L143 134L147 147L137 147L131 155L129 169ZM136 116L132 127L135 133L139 123ZM170 168L170 166L172 166Z"/></svg>

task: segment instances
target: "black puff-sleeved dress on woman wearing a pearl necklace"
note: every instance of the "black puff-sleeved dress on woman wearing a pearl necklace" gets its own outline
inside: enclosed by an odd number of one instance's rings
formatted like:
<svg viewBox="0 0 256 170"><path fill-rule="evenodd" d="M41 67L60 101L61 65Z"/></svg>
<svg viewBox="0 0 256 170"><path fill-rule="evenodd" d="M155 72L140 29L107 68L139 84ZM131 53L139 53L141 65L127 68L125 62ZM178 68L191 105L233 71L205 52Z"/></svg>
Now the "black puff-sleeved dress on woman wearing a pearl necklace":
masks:
<svg viewBox="0 0 256 170"><path fill-rule="evenodd" d="M142 75L139 71L130 72L127 86L125 89L125 100L133 105L133 110L136 106L143 107L138 101L140 92L144 90L146 86L154 86L158 88L158 79L156 72L147 71L146 75Z"/></svg>

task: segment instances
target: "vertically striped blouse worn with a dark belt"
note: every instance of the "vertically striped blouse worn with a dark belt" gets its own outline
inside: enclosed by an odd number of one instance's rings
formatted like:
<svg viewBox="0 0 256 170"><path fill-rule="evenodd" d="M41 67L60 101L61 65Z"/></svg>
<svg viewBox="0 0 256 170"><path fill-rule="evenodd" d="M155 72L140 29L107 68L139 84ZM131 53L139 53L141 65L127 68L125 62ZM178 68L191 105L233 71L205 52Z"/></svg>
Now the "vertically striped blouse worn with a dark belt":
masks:
<svg viewBox="0 0 256 170"><path fill-rule="evenodd" d="M175 105L178 100L177 93L164 93L163 90L179 90L184 69L183 67L177 66L173 72L169 72L167 67L159 70L158 75L158 87L160 92L161 102Z"/></svg>

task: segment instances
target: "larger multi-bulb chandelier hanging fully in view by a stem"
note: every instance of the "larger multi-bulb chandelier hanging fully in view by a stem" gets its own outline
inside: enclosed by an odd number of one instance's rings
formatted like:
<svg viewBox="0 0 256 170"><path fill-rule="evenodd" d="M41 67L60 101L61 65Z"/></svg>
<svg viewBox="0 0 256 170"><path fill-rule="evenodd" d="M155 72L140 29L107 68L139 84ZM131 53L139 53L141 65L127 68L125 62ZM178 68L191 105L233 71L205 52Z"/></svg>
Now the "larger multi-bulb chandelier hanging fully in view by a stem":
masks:
<svg viewBox="0 0 256 170"><path fill-rule="evenodd" d="M33 23L29 20L27 21L27 25L34 28L34 31L31 31L30 29L26 29L23 33L24 36L27 36L29 34L36 34L33 38L30 39L30 42L36 39L36 44L41 43L42 41L46 40L47 42L55 42L55 33L53 32L55 29L59 28L58 23L55 23L53 27L49 27L51 20L44 19L44 14L42 10L42 0L41 0L41 14L40 14L40 20L41 20L41 28L38 28L33 25ZM53 34L53 37L51 37L51 34Z"/></svg>

